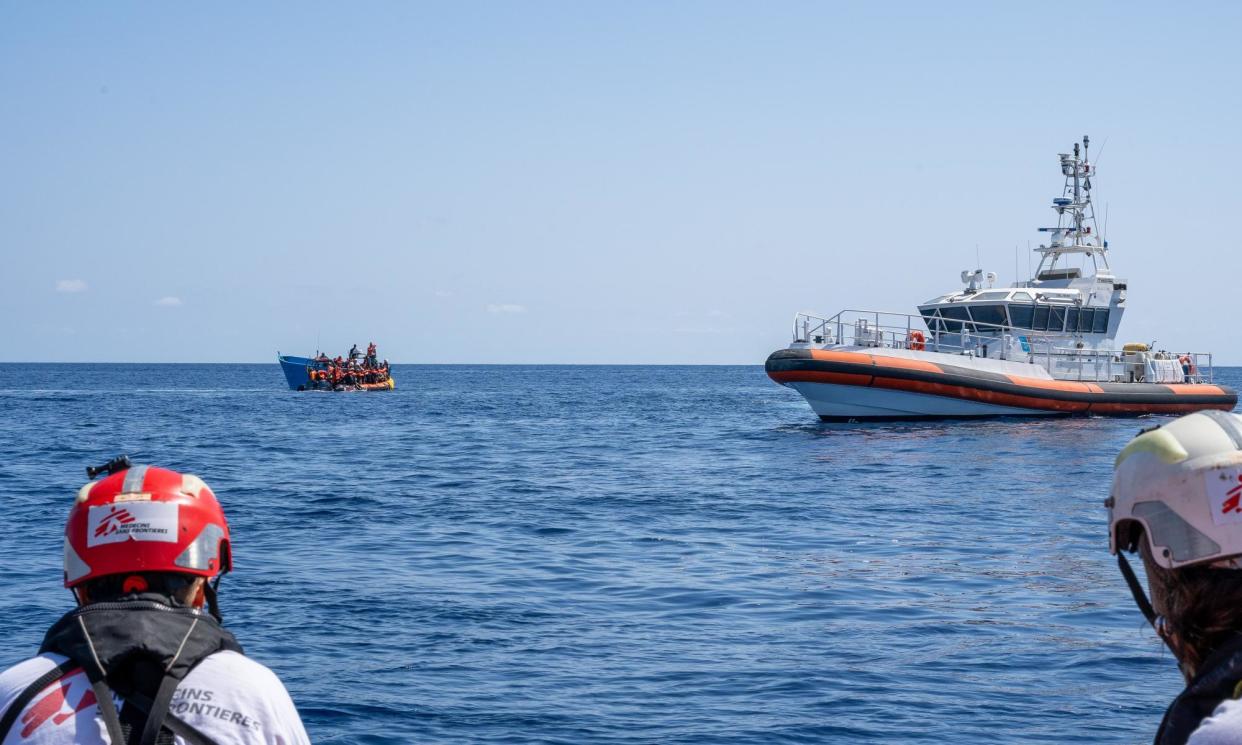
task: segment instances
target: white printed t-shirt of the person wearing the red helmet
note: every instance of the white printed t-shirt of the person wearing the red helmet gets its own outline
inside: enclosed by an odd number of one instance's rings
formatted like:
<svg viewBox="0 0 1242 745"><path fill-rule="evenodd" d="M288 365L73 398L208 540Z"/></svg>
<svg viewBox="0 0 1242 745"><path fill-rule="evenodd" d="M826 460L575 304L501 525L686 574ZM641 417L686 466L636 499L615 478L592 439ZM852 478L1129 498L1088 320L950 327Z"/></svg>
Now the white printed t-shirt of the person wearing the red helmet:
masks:
<svg viewBox="0 0 1242 745"><path fill-rule="evenodd" d="M41 654L0 673L0 716L30 684L65 662ZM117 710L124 700L116 698ZM211 740L227 745L309 745L298 710L276 673L236 652L216 652L176 687L169 710ZM0 745L108 743L94 690L71 669L31 699ZM185 745L176 738L178 745Z"/></svg>

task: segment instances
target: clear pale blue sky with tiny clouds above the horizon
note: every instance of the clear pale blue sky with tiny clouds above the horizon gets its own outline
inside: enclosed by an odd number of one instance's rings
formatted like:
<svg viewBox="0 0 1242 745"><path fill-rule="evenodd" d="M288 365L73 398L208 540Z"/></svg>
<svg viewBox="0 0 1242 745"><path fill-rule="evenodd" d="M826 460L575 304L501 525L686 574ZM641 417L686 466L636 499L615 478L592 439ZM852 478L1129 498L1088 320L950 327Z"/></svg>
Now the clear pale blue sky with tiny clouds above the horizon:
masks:
<svg viewBox="0 0 1242 745"><path fill-rule="evenodd" d="M5 4L0 359L759 364L796 310L914 312L976 246L1011 279L1090 134L1122 335L1242 364L1240 32L1231 4Z"/></svg>

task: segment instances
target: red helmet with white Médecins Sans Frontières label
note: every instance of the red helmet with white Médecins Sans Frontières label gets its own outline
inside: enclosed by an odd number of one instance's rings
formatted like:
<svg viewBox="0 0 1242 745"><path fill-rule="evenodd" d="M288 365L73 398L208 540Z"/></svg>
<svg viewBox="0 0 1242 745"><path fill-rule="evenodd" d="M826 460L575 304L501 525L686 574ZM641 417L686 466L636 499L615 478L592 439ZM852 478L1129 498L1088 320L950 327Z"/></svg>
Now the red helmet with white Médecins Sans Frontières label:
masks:
<svg viewBox="0 0 1242 745"><path fill-rule="evenodd" d="M78 492L65 525L65 586L116 574L215 577L232 569L229 523L196 476L133 466Z"/></svg>

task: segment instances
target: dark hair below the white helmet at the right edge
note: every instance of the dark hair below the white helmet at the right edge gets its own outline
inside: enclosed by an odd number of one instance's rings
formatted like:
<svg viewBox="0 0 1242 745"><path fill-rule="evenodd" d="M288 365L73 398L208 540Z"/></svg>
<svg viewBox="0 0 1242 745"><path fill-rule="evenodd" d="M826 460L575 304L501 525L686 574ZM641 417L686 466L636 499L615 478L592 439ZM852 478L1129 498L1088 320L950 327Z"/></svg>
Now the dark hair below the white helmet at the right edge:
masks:
<svg viewBox="0 0 1242 745"><path fill-rule="evenodd" d="M1242 570L1207 565L1165 569L1139 543L1153 605L1177 641L1180 662L1194 674L1212 652L1242 633Z"/></svg>

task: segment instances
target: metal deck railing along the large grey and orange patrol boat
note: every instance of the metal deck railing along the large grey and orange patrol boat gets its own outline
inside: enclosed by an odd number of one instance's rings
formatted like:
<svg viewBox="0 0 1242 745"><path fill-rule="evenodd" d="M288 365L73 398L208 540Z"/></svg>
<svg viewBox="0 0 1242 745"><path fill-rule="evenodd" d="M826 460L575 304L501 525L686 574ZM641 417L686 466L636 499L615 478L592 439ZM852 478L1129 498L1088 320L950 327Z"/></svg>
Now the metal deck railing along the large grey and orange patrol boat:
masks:
<svg viewBox="0 0 1242 745"><path fill-rule="evenodd" d="M1038 363L1058 380L1090 382L1212 382L1208 353L1126 353L1064 346L1067 338L968 320L934 319L884 310L847 309L831 317L794 317L795 346L871 346Z"/></svg>

